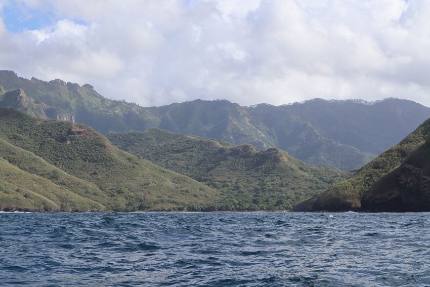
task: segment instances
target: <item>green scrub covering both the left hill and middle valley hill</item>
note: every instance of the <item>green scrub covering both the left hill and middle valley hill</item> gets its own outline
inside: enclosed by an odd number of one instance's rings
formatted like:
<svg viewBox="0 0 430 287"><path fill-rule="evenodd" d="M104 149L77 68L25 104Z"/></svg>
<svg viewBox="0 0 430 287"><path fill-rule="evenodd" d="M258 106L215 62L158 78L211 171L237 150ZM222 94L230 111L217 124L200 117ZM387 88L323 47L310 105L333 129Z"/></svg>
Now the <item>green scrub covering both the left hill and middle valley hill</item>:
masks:
<svg viewBox="0 0 430 287"><path fill-rule="evenodd" d="M87 126L0 109L0 209L285 210L346 176L276 148L158 129L109 137L140 157Z"/></svg>

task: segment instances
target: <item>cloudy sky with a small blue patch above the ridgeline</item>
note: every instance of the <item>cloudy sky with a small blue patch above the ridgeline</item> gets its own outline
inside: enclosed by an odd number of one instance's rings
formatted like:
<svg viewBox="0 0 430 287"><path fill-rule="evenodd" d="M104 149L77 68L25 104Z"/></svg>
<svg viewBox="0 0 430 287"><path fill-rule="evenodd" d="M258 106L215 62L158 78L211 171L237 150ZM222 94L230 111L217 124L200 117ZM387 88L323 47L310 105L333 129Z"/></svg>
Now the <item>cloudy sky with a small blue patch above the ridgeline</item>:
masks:
<svg viewBox="0 0 430 287"><path fill-rule="evenodd" d="M426 0L0 0L0 69L142 106L430 106Z"/></svg>

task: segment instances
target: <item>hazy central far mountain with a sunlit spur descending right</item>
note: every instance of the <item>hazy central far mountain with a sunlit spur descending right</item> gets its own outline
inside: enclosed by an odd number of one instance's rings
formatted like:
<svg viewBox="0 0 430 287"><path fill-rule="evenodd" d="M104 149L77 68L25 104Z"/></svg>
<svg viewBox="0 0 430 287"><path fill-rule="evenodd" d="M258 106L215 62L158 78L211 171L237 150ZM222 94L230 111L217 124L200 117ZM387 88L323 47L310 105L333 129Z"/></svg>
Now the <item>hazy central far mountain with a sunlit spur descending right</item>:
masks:
<svg viewBox="0 0 430 287"><path fill-rule="evenodd" d="M235 145L249 143L262 149L276 146L276 136L269 128L243 107L226 100L195 100L149 110L160 119L154 127L170 132L216 138Z"/></svg>

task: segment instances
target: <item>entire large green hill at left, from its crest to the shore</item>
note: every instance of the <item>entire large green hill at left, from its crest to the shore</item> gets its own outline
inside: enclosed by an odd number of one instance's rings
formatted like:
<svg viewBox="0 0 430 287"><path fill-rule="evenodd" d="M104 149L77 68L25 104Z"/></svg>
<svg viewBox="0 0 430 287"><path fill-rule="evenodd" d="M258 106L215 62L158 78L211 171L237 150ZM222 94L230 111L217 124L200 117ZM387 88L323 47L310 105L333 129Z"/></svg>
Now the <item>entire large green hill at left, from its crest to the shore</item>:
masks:
<svg viewBox="0 0 430 287"><path fill-rule="evenodd" d="M113 146L88 126L0 108L0 209L203 209L220 192Z"/></svg>

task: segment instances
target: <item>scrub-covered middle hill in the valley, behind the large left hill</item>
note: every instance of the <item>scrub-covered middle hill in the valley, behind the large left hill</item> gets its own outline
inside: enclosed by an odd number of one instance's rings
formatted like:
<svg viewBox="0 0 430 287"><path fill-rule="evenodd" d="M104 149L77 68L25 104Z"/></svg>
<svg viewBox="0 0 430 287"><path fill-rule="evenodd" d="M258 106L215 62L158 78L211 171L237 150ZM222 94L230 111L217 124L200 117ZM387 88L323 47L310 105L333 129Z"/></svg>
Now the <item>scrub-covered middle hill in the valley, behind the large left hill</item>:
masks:
<svg viewBox="0 0 430 287"><path fill-rule="evenodd" d="M112 133L107 138L126 152L220 190L222 210L290 210L303 198L345 179L347 173L308 165L278 149L159 129Z"/></svg>

